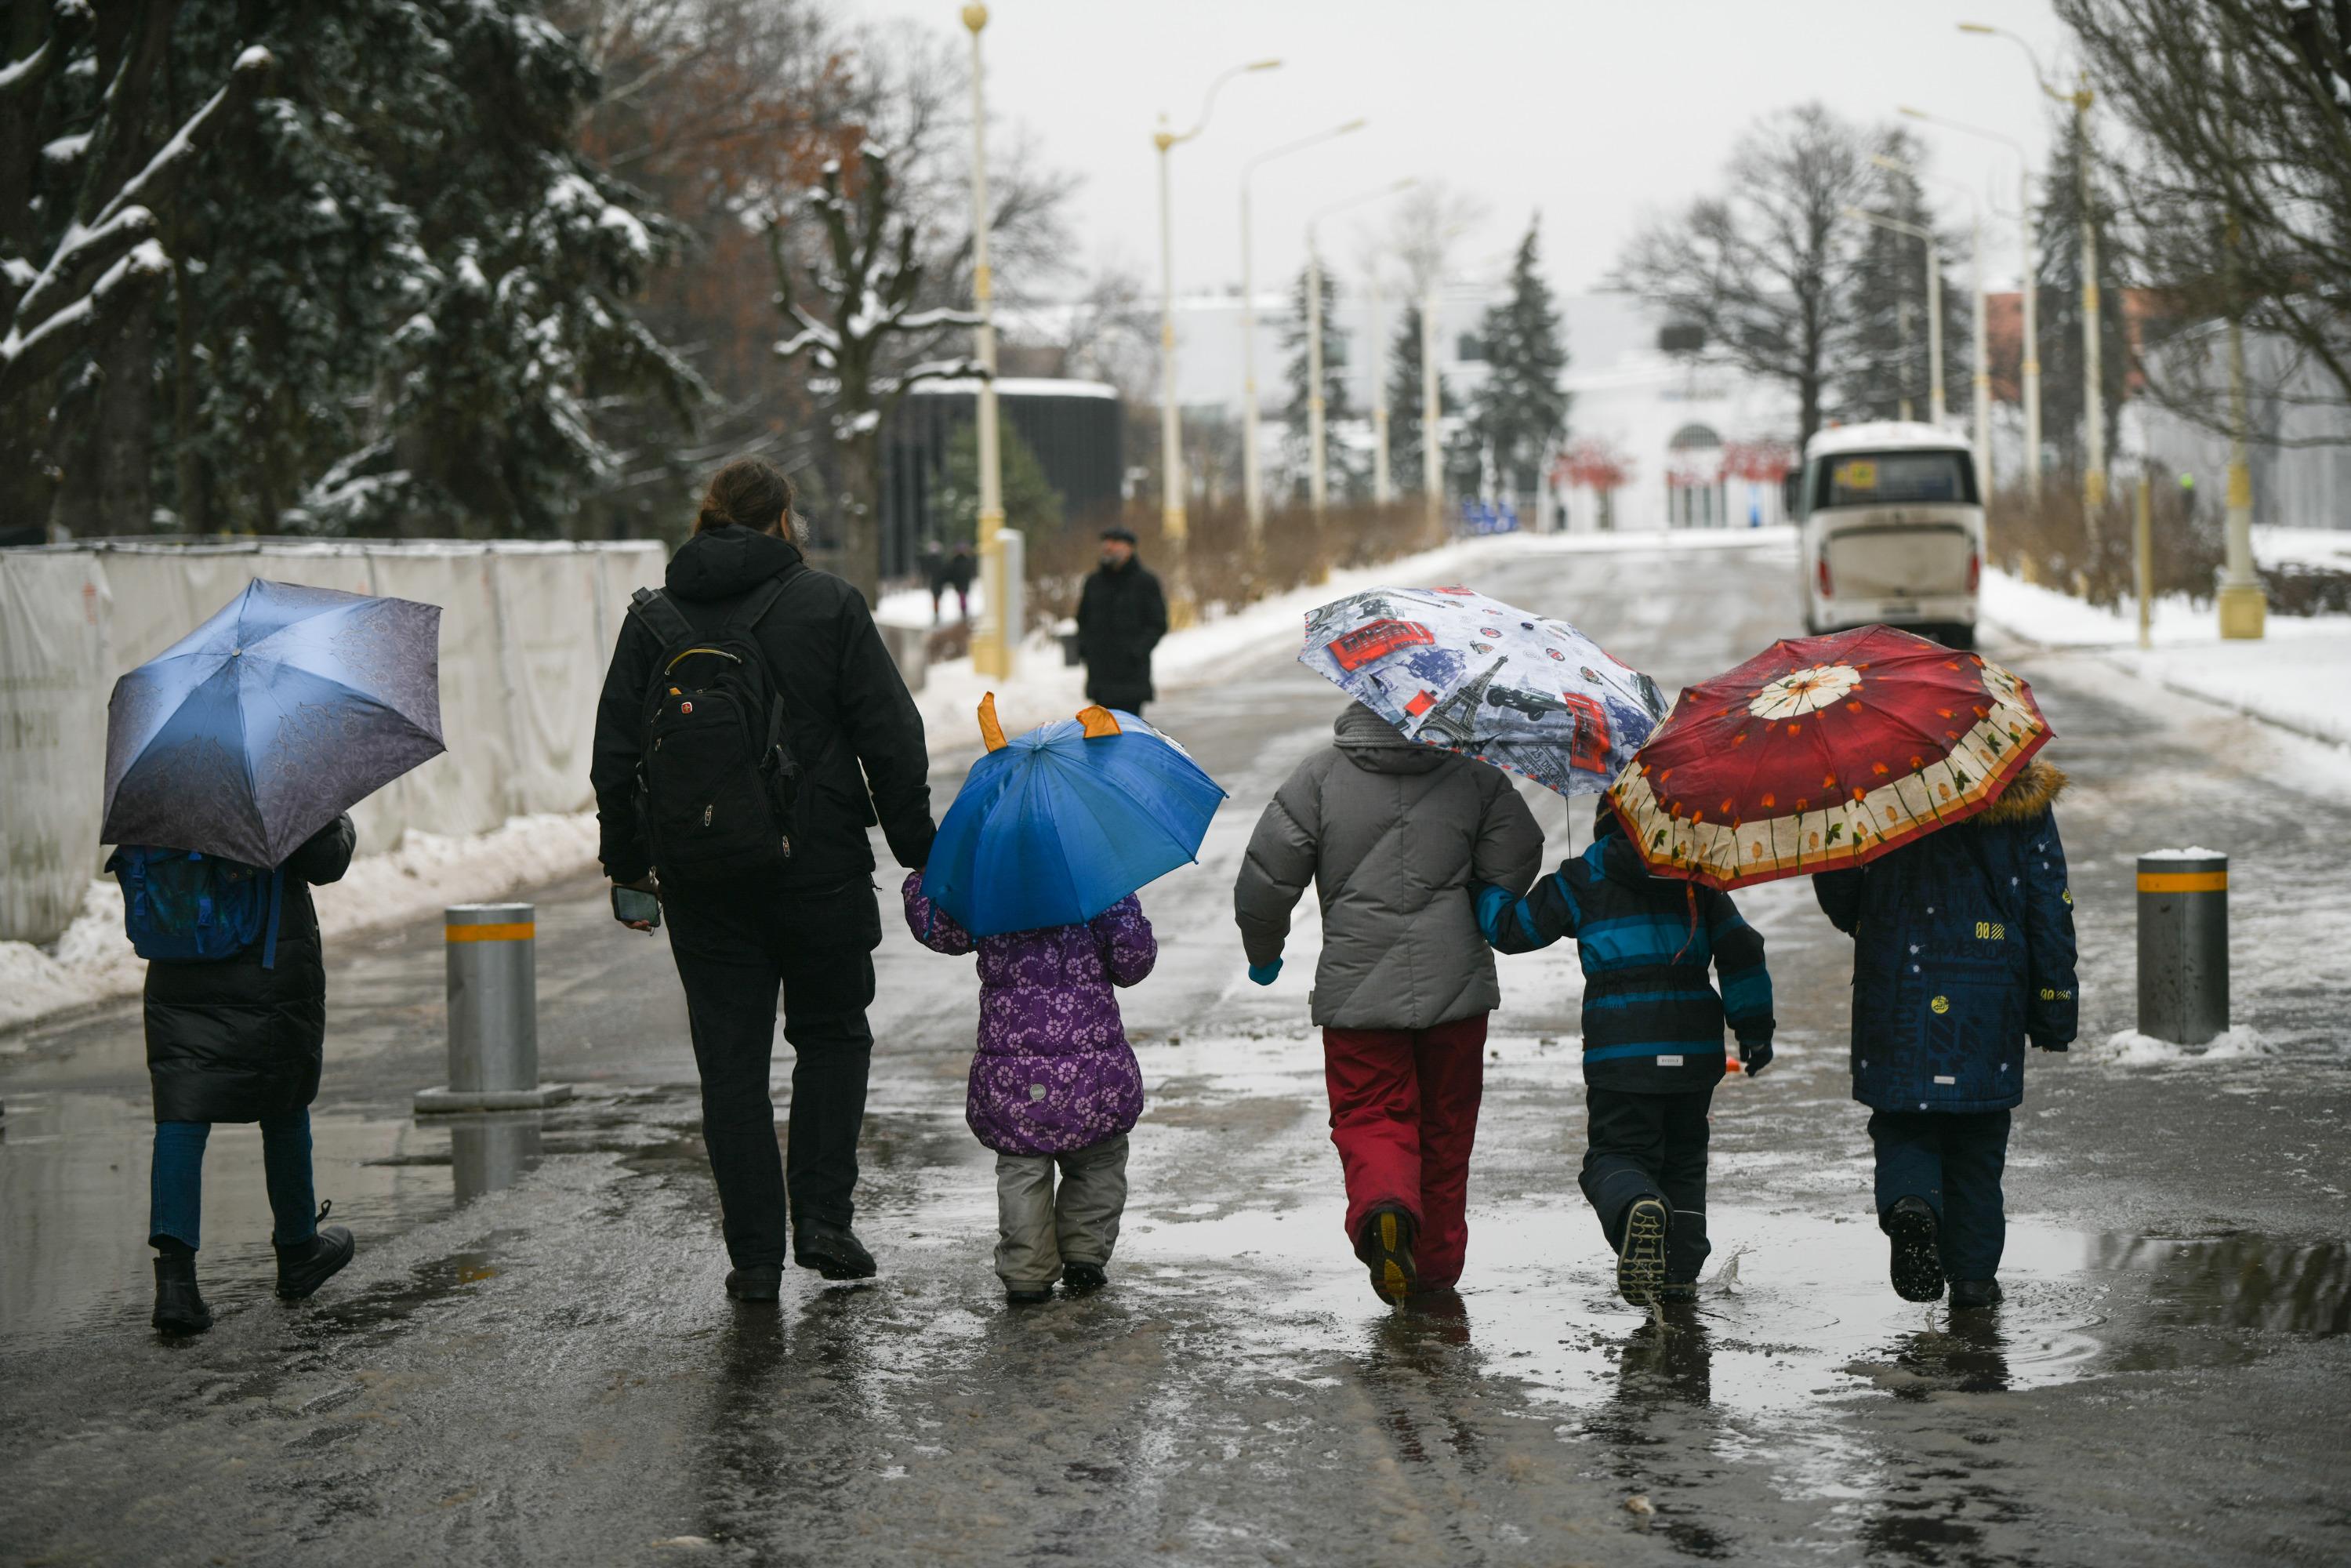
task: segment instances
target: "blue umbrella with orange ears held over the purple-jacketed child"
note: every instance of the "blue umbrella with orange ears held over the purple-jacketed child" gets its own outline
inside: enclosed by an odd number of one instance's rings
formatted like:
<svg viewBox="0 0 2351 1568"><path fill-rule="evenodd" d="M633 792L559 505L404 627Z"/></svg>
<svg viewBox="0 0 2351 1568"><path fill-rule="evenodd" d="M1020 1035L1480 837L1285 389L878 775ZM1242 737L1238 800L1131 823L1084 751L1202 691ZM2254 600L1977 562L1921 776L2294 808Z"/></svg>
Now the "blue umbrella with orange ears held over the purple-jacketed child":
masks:
<svg viewBox="0 0 2351 1568"><path fill-rule="evenodd" d="M973 936L1074 926L1199 856L1225 790L1131 712L1004 738L980 703L971 764L931 844L922 891Z"/></svg>

